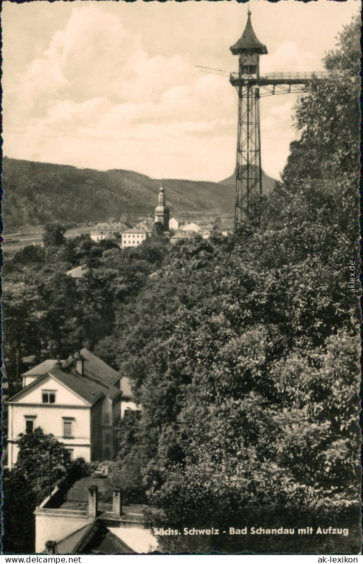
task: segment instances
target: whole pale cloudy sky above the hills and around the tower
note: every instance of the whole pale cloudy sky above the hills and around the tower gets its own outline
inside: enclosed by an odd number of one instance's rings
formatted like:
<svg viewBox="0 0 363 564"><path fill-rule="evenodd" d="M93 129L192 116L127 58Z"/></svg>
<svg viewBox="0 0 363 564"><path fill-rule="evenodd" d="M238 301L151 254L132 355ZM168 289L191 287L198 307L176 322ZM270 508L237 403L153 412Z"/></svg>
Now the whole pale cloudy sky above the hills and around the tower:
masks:
<svg viewBox="0 0 363 564"><path fill-rule="evenodd" d="M268 49L261 74L322 70L360 7L360 0L250 0L254 31ZM238 103L229 48L247 10L236 0L5 0L4 155L152 178L229 177ZM274 178L298 138L296 99L260 101L262 168Z"/></svg>

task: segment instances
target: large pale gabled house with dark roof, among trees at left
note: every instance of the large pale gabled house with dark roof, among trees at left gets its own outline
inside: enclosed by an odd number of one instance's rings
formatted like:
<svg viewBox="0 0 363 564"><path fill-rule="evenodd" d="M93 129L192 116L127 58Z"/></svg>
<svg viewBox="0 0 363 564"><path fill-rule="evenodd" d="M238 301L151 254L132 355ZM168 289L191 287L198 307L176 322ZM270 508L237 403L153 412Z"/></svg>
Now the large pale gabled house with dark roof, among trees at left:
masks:
<svg viewBox="0 0 363 564"><path fill-rule="evenodd" d="M41 427L71 459L111 460L118 422L135 409L127 378L87 349L67 360L46 360L23 374L23 389L8 399L8 466L17 460L20 434Z"/></svg>

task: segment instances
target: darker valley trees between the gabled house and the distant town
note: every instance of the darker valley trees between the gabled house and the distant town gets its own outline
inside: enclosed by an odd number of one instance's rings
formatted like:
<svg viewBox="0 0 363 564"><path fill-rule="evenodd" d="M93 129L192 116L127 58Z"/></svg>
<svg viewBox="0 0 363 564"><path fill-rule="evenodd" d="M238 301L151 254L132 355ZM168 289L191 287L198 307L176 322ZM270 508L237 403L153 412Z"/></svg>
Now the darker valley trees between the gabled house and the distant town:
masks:
<svg viewBox="0 0 363 564"><path fill-rule="evenodd" d="M2 271L3 362L10 394L25 368L17 367L17 358L66 358L109 335L118 304L138 293L167 252L165 243L153 240L124 251L85 235L65 240L62 226L49 224L43 248L29 245L8 259ZM82 279L66 275L79 264L87 267Z"/></svg>

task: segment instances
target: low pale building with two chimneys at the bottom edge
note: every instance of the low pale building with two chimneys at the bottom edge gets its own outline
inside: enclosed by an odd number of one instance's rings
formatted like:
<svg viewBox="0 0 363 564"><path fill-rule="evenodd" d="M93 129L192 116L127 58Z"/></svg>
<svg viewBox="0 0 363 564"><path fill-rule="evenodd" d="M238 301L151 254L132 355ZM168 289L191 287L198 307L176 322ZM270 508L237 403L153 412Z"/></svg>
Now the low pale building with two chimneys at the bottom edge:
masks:
<svg viewBox="0 0 363 564"><path fill-rule="evenodd" d="M83 482L88 485L96 480L85 478ZM101 508L94 483L88 487L88 499L80 490L75 503L72 491L62 485L35 509L36 553L137 554L158 549L156 539L144 528L144 506L123 505L122 492L116 489L112 505Z"/></svg>

